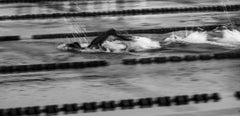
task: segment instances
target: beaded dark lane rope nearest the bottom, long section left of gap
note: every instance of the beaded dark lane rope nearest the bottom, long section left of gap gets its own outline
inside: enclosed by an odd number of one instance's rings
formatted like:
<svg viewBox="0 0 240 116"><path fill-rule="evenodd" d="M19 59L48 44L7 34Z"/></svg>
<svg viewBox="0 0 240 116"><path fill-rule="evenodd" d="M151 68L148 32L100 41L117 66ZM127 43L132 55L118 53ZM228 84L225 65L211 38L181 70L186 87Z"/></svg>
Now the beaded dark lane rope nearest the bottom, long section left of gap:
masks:
<svg viewBox="0 0 240 116"><path fill-rule="evenodd" d="M97 112L97 111L114 111L116 108L120 110L134 109L134 108L152 108L170 107L173 105L188 105L191 102L195 104L219 102L221 100L219 93L203 93L177 96L162 96L156 98L139 98L139 99L123 99L118 101L101 101L101 102L86 102L86 103L71 103L63 105L46 105L46 106L30 106L0 109L0 116L22 116L22 115L39 115L39 114L76 114L79 111L83 113Z"/></svg>

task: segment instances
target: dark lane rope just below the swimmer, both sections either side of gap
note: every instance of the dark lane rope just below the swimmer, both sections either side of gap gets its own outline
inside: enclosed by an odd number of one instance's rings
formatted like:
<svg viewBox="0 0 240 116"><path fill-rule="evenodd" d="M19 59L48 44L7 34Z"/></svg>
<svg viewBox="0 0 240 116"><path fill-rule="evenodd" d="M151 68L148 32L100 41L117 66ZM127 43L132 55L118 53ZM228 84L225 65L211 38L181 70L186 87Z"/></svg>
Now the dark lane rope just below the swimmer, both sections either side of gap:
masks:
<svg viewBox="0 0 240 116"><path fill-rule="evenodd" d="M223 59L240 59L240 53L224 52L214 54L200 54L200 55L185 55L185 56L162 56L162 57L148 57L148 58L131 58L122 59L123 65L137 65L137 64L162 64L162 63L179 63L182 61L207 61L207 60L223 60ZM23 73L34 71L53 71L53 70L69 70L80 68L93 68L100 66L111 65L110 62L105 60L86 61L86 62L65 62L65 63L49 63L49 64L30 64L30 65L13 65L13 66L0 66L0 74L8 73Z"/></svg>

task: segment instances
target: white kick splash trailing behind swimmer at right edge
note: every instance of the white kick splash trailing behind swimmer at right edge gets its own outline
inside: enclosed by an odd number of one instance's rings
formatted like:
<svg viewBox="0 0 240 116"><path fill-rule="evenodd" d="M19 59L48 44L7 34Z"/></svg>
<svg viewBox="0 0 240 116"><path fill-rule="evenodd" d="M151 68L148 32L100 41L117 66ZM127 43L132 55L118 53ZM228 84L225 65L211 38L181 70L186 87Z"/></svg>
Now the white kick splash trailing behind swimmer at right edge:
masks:
<svg viewBox="0 0 240 116"><path fill-rule="evenodd" d="M240 47L240 32L237 29L223 29L218 30L217 35L223 35L222 37L211 37L209 38L208 32L206 31L195 31L190 33L188 36L179 37L175 34L170 35L163 42L169 44L177 44L179 42L188 44L211 44L220 47Z"/></svg>

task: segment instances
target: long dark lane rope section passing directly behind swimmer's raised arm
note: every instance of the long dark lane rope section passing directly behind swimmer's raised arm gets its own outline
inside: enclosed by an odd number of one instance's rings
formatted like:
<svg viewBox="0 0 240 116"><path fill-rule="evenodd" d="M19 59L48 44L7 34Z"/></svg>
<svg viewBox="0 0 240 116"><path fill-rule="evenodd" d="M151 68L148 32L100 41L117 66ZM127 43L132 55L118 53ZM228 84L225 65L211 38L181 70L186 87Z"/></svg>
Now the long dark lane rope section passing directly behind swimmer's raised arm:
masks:
<svg viewBox="0 0 240 116"><path fill-rule="evenodd" d="M235 24L240 26L240 24ZM169 27L169 28L156 28L156 29L134 29L134 30L121 30L119 33L128 34L166 34L174 31L191 30L197 31L199 28L205 31L211 31L217 27L224 25L208 25L208 26L188 26L188 27ZM93 37L99 36L104 32L86 32L86 33L58 33L58 34L42 34L32 35L32 39L57 39L57 38L74 38L74 37Z"/></svg>

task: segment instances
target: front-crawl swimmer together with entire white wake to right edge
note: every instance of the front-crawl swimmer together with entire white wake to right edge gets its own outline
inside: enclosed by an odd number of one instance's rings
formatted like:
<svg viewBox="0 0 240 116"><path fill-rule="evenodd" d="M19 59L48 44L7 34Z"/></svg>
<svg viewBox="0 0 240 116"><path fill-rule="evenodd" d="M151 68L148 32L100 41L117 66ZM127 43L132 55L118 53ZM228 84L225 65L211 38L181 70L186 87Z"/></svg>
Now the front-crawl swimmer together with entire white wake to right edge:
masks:
<svg viewBox="0 0 240 116"><path fill-rule="evenodd" d="M239 31L225 26L218 27L213 30L213 32L206 32L199 28L197 31L192 32L186 37L172 34L169 38L166 38L163 41L151 40L147 37L121 35L117 34L116 30L110 29L93 39L90 44L73 42L61 44L58 46L58 49L80 52L122 53L169 50L176 47L187 47L190 44L211 44L235 47L240 45L239 37Z"/></svg>

